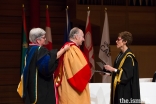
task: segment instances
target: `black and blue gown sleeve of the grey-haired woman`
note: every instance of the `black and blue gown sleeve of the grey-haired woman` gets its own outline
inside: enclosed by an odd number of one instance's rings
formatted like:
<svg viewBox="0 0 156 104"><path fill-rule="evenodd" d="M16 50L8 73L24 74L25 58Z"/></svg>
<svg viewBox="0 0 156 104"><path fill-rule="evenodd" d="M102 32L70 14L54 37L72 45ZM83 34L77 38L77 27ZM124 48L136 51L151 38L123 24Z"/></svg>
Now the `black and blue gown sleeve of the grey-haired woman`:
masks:
<svg viewBox="0 0 156 104"><path fill-rule="evenodd" d="M41 47L37 56L38 71L42 75L49 77L53 74L57 65L57 50L48 51L46 48Z"/></svg>

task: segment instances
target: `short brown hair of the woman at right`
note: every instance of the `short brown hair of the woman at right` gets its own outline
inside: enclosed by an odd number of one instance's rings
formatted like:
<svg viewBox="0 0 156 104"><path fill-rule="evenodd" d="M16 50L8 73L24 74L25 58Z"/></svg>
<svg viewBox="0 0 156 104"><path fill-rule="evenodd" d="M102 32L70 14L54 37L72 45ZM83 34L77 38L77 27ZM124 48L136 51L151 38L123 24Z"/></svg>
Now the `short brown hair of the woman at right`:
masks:
<svg viewBox="0 0 156 104"><path fill-rule="evenodd" d="M121 37L123 39L123 41L127 41L127 46L131 45L132 41L133 41L133 37L132 34L128 31L123 31L121 33L119 33L118 35L119 37Z"/></svg>

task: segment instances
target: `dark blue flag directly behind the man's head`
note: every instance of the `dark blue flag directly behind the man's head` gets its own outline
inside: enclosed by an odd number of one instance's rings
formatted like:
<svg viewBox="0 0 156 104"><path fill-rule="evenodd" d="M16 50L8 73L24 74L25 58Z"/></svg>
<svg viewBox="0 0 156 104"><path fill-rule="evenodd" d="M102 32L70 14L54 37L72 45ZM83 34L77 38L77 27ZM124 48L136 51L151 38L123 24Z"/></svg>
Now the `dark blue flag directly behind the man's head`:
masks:
<svg viewBox="0 0 156 104"><path fill-rule="evenodd" d="M70 25L70 19L69 19L69 13L68 13L68 6L66 8L66 28L65 28L65 33L64 33L64 43L69 41L69 33L71 30L71 25Z"/></svg>

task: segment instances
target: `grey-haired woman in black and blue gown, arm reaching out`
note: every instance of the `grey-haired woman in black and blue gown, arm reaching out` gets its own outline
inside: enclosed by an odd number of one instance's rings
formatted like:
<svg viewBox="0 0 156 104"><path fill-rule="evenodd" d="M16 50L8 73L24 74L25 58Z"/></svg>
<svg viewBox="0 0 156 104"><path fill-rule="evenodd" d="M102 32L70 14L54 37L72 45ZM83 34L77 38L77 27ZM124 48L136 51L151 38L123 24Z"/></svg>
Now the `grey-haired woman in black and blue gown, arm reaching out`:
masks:
<svg viewBox="0 0 156 104"><path fill-rule="evenodd" d="M69 49L67 44L59 51L48 51L45 45L46 32L33 28L29 33L31 44L25 55L23 69L23 98L25 104L56 104L53 73L58 65L58 58Z"/></svg>

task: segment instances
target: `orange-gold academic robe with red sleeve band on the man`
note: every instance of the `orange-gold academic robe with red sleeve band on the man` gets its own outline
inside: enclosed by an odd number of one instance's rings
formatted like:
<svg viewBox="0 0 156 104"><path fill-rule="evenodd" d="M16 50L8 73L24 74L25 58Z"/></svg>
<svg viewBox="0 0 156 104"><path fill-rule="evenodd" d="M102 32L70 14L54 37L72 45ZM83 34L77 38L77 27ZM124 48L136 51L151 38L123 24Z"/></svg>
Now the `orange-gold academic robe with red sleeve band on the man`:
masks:
<svg viewBox="0 0 156 104"><path fill-rule="evenodd" d="M59 61L55 72L59 104L90 104L91 70L79 47L72 43Z"/></svg>

